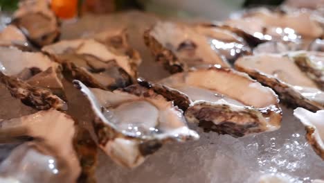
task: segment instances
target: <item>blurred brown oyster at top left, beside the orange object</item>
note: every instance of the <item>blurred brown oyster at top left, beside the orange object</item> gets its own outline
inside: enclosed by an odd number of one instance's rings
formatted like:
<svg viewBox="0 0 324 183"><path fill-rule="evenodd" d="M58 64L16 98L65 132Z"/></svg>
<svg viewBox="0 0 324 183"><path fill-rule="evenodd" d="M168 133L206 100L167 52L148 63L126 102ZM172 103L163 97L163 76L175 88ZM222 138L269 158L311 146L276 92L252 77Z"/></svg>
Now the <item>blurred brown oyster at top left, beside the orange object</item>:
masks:
<svg viewBox="0 0 324 183"><path fill-rule="evenodd" d="M17 26L36 46L42 47L55 42L60 36L60 28L48 1L24 0L12 19Z"/></svg>

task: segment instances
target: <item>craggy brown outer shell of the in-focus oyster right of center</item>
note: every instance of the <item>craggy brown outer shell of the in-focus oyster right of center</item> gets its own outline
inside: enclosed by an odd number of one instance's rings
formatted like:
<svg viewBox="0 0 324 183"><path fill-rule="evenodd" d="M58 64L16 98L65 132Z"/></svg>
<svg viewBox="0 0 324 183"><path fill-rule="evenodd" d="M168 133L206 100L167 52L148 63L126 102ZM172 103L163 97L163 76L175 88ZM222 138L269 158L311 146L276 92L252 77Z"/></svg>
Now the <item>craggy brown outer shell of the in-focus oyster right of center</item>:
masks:
<svg viewBox="0 0 324 183"><path fill-rule="evenodd" d="M233 72L232 69L225 68L210 67L208 69ZM188 122L198 123L199 127L203 128L205 132L213 131L219 134L230 134L233 137L243 137L250 133L264 132L267 128L260 125L260 116L273 118L273 121L276 122L272 125L277 126L277 128L280 127L282 112L278 103L260 109L245 107L244 110L231 110L231 105L213 105L207 102L192 104L186 94L165 85L154 84L143 79L139 79L138 83L153 89L154 92L168 98L169 101L173 101L175 105L185 112ZM273 95L276 96L274 93ZM215 124L212 122L213 120L219 123Z"/></svg>

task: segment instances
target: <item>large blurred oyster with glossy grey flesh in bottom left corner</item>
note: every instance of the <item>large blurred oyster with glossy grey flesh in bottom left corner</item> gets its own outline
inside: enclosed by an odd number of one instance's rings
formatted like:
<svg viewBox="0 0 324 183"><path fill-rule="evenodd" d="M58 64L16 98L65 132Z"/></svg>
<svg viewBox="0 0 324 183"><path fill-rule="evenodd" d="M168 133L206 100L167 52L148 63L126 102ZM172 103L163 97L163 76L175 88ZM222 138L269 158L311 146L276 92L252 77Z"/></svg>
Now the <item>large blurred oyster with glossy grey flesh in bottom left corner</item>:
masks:
<svg viewBox="0 0 324 183"><path fill-rule="evenodd" d="M81 173L88 178L86 166L91 166L89 159L95 158L89 155L96 151L91 148L96 144L84 139L84 132L70 116L48 110L0 124L1 143L34 139L12 150L0 165L0 177L28 183L76 182Z"/></svg>

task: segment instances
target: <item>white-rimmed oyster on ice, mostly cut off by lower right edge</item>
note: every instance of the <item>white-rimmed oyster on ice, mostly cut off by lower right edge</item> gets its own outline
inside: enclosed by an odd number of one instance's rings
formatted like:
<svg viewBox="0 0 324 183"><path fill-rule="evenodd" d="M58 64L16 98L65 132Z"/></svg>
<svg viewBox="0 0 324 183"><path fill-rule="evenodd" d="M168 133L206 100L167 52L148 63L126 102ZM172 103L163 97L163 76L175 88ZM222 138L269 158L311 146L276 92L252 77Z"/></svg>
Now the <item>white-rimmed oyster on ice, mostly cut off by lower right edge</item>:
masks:
<svg viewBox="0 0 324 183"><path fill-rule="evenodd" d="M307 141L324 160L324 110L314 113L298 107L294 110L294 116L305 125Z"/></svg>

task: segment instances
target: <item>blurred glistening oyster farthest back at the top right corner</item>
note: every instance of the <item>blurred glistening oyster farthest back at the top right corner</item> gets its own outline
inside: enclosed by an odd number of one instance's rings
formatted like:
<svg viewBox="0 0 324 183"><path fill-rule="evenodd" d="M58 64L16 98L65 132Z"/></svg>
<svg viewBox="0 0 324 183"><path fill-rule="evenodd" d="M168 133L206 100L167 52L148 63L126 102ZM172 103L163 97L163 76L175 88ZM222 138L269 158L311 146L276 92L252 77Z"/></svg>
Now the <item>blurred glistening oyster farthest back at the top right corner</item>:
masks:
<svg viewBox="0 0 324 183"><path fill-rule="evenodd" d="M300 42L300 39L314 40L324 34L321 24L306 10L284 12L258 8L228 19L224 24L253 35L255 42Z"/></svg>

